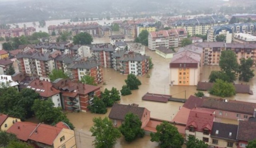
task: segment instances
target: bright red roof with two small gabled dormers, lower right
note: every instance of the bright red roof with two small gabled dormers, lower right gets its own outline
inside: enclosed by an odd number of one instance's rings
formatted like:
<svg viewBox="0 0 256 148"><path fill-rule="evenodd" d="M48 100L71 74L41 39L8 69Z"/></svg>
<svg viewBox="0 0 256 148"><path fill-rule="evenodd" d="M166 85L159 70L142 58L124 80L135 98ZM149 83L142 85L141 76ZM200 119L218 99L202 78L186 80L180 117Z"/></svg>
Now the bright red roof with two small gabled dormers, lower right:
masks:
<svg viewBox="0 0 256 148"><path fill-rule="evenodd" d="M214 120L214 111L207 109L193 109L190 111L188 115L188 121L186 129L189 126L194 126L195 131L203 132L203 129L207 128L208 130L212 130L213 120Z"/></svg>

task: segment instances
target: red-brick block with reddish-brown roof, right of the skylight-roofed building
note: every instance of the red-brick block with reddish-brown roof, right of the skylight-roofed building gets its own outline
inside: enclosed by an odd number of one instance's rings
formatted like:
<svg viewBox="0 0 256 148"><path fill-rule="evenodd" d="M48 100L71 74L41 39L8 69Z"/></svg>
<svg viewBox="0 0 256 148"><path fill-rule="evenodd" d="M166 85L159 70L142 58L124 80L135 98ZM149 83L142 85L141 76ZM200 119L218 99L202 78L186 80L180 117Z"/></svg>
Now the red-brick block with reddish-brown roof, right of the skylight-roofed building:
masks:
<svg viewBox="0 0 256 148"><path fill-rule="evenodd" d="M72 82L66 79L56 79L53 86L61 90L63 109L69 111L87 112L92 104L93 97L100 97L100 87Z"/></svg>

